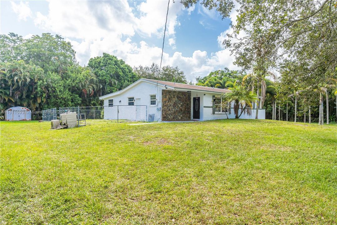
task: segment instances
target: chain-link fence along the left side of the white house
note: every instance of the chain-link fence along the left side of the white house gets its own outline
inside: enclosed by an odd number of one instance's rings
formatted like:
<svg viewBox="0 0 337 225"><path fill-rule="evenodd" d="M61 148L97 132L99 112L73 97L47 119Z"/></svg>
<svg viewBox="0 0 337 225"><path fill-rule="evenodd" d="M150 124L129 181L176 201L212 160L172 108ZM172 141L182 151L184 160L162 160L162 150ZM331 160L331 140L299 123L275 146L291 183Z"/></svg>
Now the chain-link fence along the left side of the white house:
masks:
<svg viewBox="0 0 337 225"><path fill-rule="evenodd" d="M62 107L59 114L74 112L87 120L147 121L146 105Z"/></svg>

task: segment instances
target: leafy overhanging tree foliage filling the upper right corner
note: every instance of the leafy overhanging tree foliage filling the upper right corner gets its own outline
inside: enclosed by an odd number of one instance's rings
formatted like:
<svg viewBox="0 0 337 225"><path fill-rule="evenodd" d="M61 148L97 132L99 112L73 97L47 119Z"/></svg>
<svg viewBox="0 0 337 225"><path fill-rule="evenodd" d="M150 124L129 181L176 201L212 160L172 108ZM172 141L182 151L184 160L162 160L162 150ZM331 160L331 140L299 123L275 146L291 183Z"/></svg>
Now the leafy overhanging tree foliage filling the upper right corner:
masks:
<svg viewBox="0 0 337 225"><path fill-rule="evenodd" d="M186 7L198 0L182 0ZM336 78L337 7L334 0L250 1L237 0L238 16L223 44L230 48L235 64L257 75L261 82L270 67L289 56L296 73L288 82L318 89ZM233 0L203 0L205 7L228 17ZM282 65L282 64L280 64ZM281 74L283 76L283 74ZM297 89L300 90L300 89Z"/></svg>

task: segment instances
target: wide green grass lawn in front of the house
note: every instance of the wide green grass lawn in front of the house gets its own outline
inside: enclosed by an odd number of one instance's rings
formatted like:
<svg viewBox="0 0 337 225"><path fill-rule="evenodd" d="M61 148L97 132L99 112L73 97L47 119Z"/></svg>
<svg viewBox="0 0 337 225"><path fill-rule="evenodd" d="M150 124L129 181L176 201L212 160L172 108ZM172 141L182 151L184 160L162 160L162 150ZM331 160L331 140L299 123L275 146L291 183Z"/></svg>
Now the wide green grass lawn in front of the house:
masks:
<svg viewBox="0 0 337 225"><path fill-rule="evenodd" d="M0 128L0 224L337 223L336 125Z"/></svg>

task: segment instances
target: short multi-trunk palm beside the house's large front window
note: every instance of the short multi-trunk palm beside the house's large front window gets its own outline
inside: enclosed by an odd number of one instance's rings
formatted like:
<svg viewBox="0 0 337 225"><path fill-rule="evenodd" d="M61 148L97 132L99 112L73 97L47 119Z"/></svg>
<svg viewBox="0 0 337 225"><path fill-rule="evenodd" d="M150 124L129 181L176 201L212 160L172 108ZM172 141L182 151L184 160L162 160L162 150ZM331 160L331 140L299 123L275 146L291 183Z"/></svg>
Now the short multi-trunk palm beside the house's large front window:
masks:
<svg viewBox="0 0 337 225"><path fill-rule="evenodd" d="M247 113L247 115L251 115L252 102L257 101L256 95L252 92L247 91L243 86L237 85L234 83L233 87L229 87L231 92L225 94L225 99L228 102L234 101L234 114L235 119L239 119L242 113ZM241 109L241 113L239 115L239 108Z"/></svg>

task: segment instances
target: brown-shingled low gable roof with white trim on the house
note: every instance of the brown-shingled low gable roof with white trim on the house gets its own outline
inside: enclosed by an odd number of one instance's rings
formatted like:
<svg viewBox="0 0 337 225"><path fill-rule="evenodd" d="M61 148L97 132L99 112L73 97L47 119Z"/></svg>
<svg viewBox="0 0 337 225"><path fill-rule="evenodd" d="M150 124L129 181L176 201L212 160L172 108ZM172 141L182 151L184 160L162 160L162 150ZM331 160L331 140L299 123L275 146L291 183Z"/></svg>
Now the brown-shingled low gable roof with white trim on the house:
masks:
<svg viewBox="0 0 337 225"><path fill-rule="evenodd" d="M145 79L141 78L137 80L136 82L130 84L129 86L125 87L124 89L110 93L108 95L103 95L99 97L99 99L105 99L109 98L115 95L119 95L123 93L124 91L130 89L132 86L136 85L139 82L148 82L152 84L158 84L159 86L162 87L167 87L170 89L174 89L177 91L203 91L203 92L209 92L209 93L228 93L231 92L228 89L221 89L221 88L215 88L215 87L205 87L205 86L198 86L198 85L192 85L192 84L184 84L184 83L175 83L175 82L168 82L168 81L162 81L162 80L152 80L152 79Z"/></svg>

